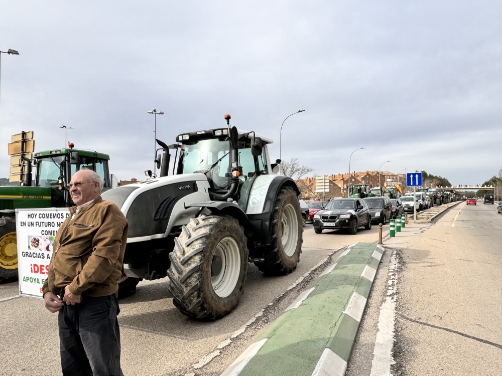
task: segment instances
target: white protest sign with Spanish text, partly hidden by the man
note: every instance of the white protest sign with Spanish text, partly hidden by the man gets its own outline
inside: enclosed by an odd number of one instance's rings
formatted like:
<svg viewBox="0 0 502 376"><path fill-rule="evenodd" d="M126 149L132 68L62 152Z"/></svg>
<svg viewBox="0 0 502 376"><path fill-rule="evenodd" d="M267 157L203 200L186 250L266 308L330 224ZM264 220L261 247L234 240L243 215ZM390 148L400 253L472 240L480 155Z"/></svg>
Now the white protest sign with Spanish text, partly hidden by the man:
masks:
<svg viewBox="0 0 502 376"><path fill-rule="evenodd" d="M16 209L21 296L42 297L56 231L69 215L66 208Z"/></svg>

